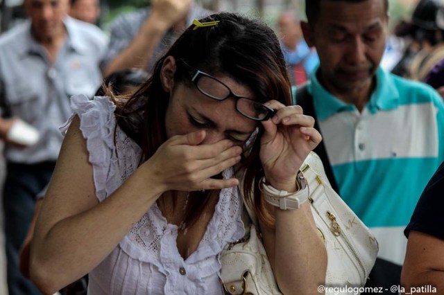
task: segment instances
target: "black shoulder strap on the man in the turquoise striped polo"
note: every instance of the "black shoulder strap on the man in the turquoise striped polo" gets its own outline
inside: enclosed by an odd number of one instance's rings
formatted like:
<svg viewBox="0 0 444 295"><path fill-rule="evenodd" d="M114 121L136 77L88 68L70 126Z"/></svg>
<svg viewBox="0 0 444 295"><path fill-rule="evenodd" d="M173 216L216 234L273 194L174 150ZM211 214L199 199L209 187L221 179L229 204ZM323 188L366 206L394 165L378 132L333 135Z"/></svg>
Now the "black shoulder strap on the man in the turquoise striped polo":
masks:
<svg viewBox="0 0 444 295"><path fill-rule="evenodd" d="M298 87L296 89L296 93L294 94L295 95L293 95L293 103L295 105L300 105L300 107L304 109L304 114L312 116L314 118L314 128L321 133L321 128L319 128L318 125L318 117L316 116L316 112L314 111L313 96L311 96L311 94L308 92L307 84ZM334 191L339 194L339 187L336 183L336 179L334 178L332 165L330 164L330 160L328 159L324 141L321 141L321 143L319 143L313 151L316 152L316 154L318 154L318 156L321 158L321 161L324 165L325 174L327 175L327 179L328 181L330 181L330 185L332 186Z"/></svg>

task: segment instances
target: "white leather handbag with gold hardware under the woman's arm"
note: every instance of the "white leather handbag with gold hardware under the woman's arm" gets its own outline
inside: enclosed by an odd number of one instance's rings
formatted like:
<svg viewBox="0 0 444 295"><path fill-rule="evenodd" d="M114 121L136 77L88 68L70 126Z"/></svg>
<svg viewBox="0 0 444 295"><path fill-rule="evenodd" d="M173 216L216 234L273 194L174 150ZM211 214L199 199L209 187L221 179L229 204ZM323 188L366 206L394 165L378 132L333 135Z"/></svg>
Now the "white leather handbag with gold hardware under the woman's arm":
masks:
<svg viewBox="0 0 444 295"><path fill-rule="evenodd" d="M317 154L311 152L301 170L308 181L311 212L327 249L325 294L360 294L362 288L359 286L365 285L375 264L379 249L377 240L332 189ZM232 295L282 294L275 283L260 234L257 234L257 217L246 204L244 206L253 224L249 226L244 222L244 238L228 244L219 256L225 292ZM313 294L319 294L318 290Z"/></svg>

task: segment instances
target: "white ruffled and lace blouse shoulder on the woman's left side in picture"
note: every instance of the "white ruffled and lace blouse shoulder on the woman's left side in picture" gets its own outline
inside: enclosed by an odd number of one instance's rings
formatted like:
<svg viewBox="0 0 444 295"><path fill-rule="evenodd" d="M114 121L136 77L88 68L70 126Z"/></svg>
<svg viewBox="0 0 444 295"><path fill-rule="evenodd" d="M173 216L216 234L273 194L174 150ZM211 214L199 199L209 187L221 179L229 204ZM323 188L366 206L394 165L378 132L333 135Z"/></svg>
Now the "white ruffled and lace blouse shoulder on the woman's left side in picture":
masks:
<svg viewBox="0 0 444 295"><path fill-rule="evenodd" d="M141 150L117 127L116 105L108 96L72 96L71 109L73 115L66 125L78 116L94 170L96 196L102 202L135 171Z"/></svg>

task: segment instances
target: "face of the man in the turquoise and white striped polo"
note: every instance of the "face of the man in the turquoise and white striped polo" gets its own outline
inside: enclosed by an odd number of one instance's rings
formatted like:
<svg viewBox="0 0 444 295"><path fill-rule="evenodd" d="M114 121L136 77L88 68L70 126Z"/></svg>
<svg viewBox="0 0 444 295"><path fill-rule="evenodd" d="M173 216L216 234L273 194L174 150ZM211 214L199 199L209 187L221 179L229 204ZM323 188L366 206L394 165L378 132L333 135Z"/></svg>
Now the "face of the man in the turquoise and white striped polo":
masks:
<svg viewBox="0 0 444 295"><path fill-rule="evenodd" d="M382 0L321 1L315 24L304 35L316 46L321 79L332 93L370 90L385 48L388 16Z"/></svg>

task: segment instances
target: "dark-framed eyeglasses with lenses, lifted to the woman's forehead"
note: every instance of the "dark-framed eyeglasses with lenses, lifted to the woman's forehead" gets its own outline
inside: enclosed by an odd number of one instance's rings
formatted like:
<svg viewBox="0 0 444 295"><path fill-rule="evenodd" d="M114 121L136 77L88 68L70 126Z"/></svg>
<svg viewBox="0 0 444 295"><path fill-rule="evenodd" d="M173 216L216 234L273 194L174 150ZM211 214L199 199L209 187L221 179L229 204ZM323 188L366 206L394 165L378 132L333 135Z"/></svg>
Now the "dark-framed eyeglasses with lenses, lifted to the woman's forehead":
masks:
<svg viewBox="0 0 444 295"><path fill-rule="evenodd" d="M268 120L275 114L275 110L271 107L267 107L261 102L257 102L250 98L238 96L233 93L227 85L214 78L212 75L192 68L183 60L180 60L180 62L185 65L185 68L191 77L191 82L193 82L198 91L205 96L215 100L225 100L230 97L234 98L236 100L236 110L252 120Z"/></svg>

